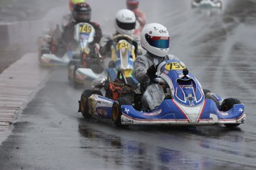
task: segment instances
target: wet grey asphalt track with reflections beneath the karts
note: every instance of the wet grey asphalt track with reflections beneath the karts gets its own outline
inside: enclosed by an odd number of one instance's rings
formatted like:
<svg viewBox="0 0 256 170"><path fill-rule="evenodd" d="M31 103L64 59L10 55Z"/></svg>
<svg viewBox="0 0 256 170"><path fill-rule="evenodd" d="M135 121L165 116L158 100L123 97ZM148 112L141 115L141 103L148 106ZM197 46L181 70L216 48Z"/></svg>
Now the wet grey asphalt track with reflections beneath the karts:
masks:
<svg viewBox="0 0 256 170"><path fill-rule="evenodd" d="M99 1L90 3L93 20L102 23L103 32L111 30L111 17L96 6ZM122 6L114 5L109 15ZM246 123L234 129L116 129L88 122L76 113L82 89L68 84L66 69L53 69L1 143L0 169L256 169L256 1L224 1L222 11L191 9L187 0L144 0L141 7L148 23L169 28L171 53L204 88L245 103Z"/></svg>

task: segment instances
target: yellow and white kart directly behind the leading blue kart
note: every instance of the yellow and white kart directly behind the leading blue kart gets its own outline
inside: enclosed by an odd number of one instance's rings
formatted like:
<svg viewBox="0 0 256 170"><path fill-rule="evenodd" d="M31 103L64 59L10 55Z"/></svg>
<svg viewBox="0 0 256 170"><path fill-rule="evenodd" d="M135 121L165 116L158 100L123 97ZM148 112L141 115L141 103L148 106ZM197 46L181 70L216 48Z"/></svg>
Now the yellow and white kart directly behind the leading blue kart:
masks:
<svg viewBox="0 0 256 170"><path fill-rule="evenodd" d="M82 48L81 49L86 49ZM96 50L95 56L100 56L99 48ZM87 57L86 52L82 53L82 60L84 64L81 66L77 61L70 61L69 64L69 79L73 79L76 85L88 84L96 78L107 76L108 68L116 68L116 70L122 70L125 77L131 76L131 72L134 67L134 60L137 54L137 44L134 44L133 38L129 35L116 35L113 38L113 43L111 45L111 56L107 56L104 60L100 56L98 62L94 62L96 65L91 63L92 58ZM96 57L99 58L99 57ZM75 63L76 64L73 64ZM90 64L88 64L88 62ZM87 66L89 67L87 67ZM90 69L91 68L91 69ZM98 69L98 71L96 70ZM73 72L75 70L75 72ZM116 71L117 72L117 71ZM73 75L73 78L72 78Z"/></svg>

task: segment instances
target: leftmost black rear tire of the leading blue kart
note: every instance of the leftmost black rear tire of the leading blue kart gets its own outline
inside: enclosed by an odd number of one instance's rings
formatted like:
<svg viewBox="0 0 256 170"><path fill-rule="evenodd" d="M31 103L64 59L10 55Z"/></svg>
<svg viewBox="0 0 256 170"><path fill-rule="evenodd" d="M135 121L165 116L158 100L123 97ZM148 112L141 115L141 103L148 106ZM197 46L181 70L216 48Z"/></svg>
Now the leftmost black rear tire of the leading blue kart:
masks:
<svg viewBox="0 0 256 170"><path fill-rule="evenodd" d="M91 118L91 115L89 113L89 101L88 98L93 95L93 94L97 94L97 95L102 95L102 92L100 91L93 91L91 89L85 89L82 92L81 98L80 98L80 104L79 104L79 110L82 113L82 116L85 119L89 119Z"/></svg>

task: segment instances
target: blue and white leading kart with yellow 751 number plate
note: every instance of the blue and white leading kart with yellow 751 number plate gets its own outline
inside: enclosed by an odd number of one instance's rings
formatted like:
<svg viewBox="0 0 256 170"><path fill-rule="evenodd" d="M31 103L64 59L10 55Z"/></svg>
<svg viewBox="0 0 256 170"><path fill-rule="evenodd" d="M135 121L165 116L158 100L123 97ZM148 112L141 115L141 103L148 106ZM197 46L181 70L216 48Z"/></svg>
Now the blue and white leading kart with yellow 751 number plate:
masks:
<svg viewBox="0 0 256 170"><path fill-rule="evenodd" d="M160 102L154 101L154 103L148 100L151 110L145 111L142 107L138 107L140 101L137 99L117 98L113 101L102 96L102 92L93 89L91 92L94 92L88 95L88 98L85 95L81 96L80 112L94 118L112 119L116 126L220 124L233 127L246 120L243 103L235 98L223 100L219 95L203 89L181 61L163 61L157 67L157 77L161 78L161 81L148 86L143 93L143 96L151 96L152 100L161 99Z"/></svg>

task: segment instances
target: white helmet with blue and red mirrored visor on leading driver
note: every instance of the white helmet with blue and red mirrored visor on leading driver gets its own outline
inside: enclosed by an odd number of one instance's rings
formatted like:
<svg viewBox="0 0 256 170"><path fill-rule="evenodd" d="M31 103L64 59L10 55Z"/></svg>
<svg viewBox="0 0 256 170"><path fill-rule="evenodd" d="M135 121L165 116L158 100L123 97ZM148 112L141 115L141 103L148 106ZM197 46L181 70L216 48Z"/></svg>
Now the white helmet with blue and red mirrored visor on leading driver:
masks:
<svg viewBox="0 0 256 170"><path fill-rule="evenodd" d="M148 52L159 57L165 57L169 50L169 33L161 24L146 24L140 34L141 46Z"/></svg>

